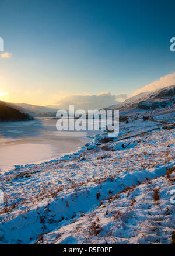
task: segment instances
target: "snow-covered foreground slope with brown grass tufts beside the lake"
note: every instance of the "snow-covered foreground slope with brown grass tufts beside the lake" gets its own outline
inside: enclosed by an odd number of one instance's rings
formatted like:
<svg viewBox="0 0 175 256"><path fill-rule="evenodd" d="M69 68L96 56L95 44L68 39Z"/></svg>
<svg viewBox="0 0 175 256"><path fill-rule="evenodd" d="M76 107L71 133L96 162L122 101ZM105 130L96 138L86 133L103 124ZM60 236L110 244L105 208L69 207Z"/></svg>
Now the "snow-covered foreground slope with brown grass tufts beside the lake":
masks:
<svg viewBox="0 0 175 256"><path fill-rule="evenodd" d="M127 112L113 141L0 174L0 243L172 243L174 110Z"/></svg>

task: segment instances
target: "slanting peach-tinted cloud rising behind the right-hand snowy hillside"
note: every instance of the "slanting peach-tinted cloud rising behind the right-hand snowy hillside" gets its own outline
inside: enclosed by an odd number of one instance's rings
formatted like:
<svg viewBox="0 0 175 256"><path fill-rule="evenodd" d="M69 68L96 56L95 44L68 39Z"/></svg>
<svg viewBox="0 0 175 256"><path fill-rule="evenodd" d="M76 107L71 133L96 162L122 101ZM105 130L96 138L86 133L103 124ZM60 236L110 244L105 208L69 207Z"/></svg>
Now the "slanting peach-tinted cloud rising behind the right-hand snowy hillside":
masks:
<svg viewBox="0 0 175 256"><path fill-rule="evenodd" d="M156 89L161 89L163 87L174 85L175 84L175 72L173 74L165 75L164 77L160 77L159 80L151 82L149 85L145 85L145 87L138 89L131 96L135 96L140 94L141 92L150 92Z"/></svg>

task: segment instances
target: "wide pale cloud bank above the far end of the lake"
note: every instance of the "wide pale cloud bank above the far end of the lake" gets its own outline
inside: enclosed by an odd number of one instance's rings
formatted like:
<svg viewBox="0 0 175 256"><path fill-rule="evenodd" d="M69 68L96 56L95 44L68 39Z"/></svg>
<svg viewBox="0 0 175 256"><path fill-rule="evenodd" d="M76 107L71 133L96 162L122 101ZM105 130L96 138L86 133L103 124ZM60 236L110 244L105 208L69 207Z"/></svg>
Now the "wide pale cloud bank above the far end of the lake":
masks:
<svg viewBox="0 0 175 256"><path fill-rule="evenodd" d="M123 100L127 98L127 95L121 94L116 96L112 95L110 92L101 92L101 94L97 95L69 95L57 102L54 102L54 104L57 105L59 109L69 109L69 105L75 105L75 110L101 109L117 104L118 98Z"/></svg>

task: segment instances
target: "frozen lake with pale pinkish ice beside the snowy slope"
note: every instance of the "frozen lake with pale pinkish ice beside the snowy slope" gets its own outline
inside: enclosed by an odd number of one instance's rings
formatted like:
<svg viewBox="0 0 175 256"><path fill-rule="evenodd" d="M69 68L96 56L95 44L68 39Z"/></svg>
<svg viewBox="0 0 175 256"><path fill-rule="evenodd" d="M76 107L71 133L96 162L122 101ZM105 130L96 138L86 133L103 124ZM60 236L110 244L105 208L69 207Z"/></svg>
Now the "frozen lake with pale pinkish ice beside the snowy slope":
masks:
<svg viewBox="0 0 175 256"><path fill-rule="evenodd" d="M78 150L90 141L87 132L57 131L56 122L44 118L0 122L0 170L48 161Z"/></svg>

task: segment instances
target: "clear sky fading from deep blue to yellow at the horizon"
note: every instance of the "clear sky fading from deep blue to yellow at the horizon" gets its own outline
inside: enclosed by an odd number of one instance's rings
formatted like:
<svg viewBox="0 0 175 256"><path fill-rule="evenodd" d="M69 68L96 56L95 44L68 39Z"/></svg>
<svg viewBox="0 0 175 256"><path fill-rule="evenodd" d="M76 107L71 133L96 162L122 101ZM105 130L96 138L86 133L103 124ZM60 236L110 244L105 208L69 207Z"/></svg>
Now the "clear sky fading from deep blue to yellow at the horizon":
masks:
<svg viewBox="0 0 175 256"><path fill-rule="evenodd" d="M130 95L175 71L174 11L169 0L3 0L0 37L12 56L0 59L0 92L41 105L74 94Z"/></svg>

